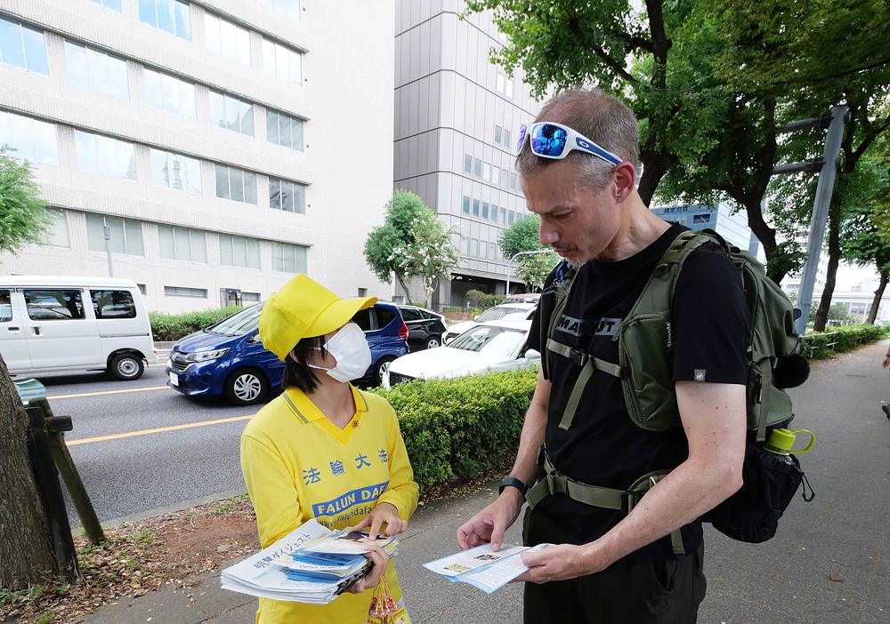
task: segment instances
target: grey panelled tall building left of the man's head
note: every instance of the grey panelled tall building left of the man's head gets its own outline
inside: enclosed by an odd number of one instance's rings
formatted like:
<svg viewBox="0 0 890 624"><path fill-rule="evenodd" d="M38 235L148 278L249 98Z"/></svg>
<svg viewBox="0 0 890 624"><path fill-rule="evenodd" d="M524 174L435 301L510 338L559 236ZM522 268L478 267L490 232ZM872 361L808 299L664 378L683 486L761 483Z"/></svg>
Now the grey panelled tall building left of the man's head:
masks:
<svg viewBox="0 0 890 624"><path fill-rule="evenodd" d="M433 303L458 306L471 288L505 292L498 236L527 212L516 141L540 109L522 69L490 62L505 41L490 12L465 12L462 0L398 0L395 14L393 186L453 228L459 265Z"/></svg>

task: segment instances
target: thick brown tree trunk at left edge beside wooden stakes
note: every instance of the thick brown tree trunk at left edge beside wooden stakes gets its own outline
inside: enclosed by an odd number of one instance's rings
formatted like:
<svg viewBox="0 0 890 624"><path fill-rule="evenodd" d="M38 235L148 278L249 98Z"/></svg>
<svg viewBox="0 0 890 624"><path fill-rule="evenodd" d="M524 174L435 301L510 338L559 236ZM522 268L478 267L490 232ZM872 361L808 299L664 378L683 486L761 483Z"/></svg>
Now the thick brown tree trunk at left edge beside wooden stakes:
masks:
<svg viewBox="0 0 890 624"><path fill-rule="evenodd" d="M43 504L31 472L28 416L0 356L0 588L39 585L59 572Z"/></svg>

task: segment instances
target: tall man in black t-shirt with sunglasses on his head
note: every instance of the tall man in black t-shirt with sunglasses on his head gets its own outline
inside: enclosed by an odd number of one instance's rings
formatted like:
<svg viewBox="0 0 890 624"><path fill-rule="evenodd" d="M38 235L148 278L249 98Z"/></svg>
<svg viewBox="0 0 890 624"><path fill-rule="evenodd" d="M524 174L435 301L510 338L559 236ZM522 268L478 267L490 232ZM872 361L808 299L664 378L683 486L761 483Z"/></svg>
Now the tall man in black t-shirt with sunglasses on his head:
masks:
<svg viewBox="0 0 890 624"><path fill-rule="evenodd" d="M617 363L612 339L683 228L653 215L636 192L637 122L620 100L600 91L563 92L536 122L558 125L533 124L516 166L529 210L541 218L541 244L563 258L545 292L568 268L576 271L557 338L587 357ZM540 323L539 308L529 343L546 357ZM499 548L526 485L541 476L542 444L561 475L616 491L673 468L629 513L564 493L546 495L526 512L526 543L556 544L523 556L530 567L519 579L527 581L526 622L696 620L705 592L697 518L739 489L745 447L748 311L739 272L718 245L705 244L686 260L670 323L671 353L651 357L672 360L682 427L637 427L619 376L603 370L582 386L566 427L580 367L551 354L549 379L538 375L498 499L457 530L461 548L489 541Z"/></svg>

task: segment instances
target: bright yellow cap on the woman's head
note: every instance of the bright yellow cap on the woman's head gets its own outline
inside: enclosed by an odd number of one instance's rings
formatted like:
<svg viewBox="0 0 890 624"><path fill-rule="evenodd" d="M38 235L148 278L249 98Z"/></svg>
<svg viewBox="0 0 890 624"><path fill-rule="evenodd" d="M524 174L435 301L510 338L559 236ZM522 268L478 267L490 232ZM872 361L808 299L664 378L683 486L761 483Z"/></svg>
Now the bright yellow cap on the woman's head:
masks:
<svg viewBox="0 0 890 624"><path fill-rule="evenodd" d="M297 274L263 304L260 340L284 362L297 342L343 327L356 312L370 308L376 300L340 299L310 276Z"/></svg>

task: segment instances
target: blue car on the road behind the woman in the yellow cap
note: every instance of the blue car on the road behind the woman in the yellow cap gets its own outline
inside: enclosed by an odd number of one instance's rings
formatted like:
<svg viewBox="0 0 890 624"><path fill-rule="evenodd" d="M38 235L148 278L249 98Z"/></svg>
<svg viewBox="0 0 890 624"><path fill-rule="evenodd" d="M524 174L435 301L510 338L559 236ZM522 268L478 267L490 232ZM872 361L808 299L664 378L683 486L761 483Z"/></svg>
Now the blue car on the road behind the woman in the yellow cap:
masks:
<svg viewBox="0 0 890 624"><path fill-rule="evenodd" d="M259 403L280 388L284 363L260 341L262 309L258 303L176 342L166 365L167 385L183 395L225 396L239 405ZM408 326L399 308L381 301L352 320L371 348L371 365L356 382L379 385L390 362L408 353Z"/></svg>

